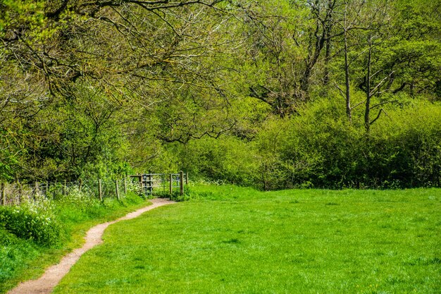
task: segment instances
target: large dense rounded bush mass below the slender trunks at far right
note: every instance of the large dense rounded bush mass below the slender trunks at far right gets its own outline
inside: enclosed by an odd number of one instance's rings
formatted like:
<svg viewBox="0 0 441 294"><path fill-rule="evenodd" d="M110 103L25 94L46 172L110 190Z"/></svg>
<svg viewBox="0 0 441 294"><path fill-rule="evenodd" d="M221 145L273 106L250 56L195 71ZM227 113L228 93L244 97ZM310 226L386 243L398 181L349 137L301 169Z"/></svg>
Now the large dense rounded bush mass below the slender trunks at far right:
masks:
<svg viewBox="0 0 441 294"><path fill-rule="evenodd" d="M350 123L335 102L309 105L280 147L282 180L316 188L440 186L441 105L389 107L366 134L361 117Z"/></svg>

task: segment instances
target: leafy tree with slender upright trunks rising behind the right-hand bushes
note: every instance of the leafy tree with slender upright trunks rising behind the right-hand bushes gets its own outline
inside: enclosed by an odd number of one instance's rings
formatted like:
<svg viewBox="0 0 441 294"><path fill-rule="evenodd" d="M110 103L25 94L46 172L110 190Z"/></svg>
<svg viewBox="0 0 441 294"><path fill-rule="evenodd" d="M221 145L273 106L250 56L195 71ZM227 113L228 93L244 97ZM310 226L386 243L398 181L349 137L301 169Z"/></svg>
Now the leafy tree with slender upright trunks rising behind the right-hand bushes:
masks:
<svg viewBox="0 0 441 294"><path fill-rule="evenodd" d="M431 80L425 80L423 83L426 86L422 87L436 85L437 63L433 62L436 60L433 54L439 52L439 44L430 41L432 37L427 38L428 35L417 32L432 31L433 25L426 23L426 29L413 27L406 32L419 36L418 44L422 47L416 49L418 45L407 41L406 34L398 29L398 24L402 24L402 13L402 6L393 1L351 1L344 5L342 18L337 21L344 32L338 40L343 56L343 61L340 62L344 73L344 89L338 83L335 85L345 99L349 120L352 119L352 110L364 105L364 126L367 133L370 126L385 113L383 106L398 102L393 94L404 91L406 85L415 85L415 82L404 80L409 80L410 77L414 80L417 75L428 73ZM406 20L406 23L409 22ZM421 39L425 38L427 39L421 43ZM412 63L416 66L429 60L429 63L426 62L428 66L419 66L418 71L411 66ZM354 106L351 97L352 85L356 86L354 90L365 93L364 101L357 102ZM408 88L410 93L413 87ZM374 109L378 109L378 112L371 118L371 111Z"/></svg>

